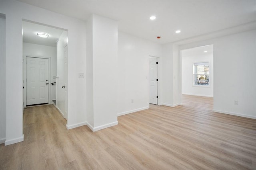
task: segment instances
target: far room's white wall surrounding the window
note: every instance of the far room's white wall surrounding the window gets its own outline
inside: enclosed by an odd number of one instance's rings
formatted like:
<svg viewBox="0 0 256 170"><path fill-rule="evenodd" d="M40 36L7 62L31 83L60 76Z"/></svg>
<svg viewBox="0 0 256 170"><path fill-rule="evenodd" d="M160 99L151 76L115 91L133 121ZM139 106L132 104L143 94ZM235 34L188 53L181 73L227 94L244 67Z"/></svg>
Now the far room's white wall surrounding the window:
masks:
<svg viewBox="0 0 256 170"><path fill-rule="evenodd" d="M209 62L210 85L194 86L194 63ZM213 53L182 55L182 94L213 97Z"/></svg>

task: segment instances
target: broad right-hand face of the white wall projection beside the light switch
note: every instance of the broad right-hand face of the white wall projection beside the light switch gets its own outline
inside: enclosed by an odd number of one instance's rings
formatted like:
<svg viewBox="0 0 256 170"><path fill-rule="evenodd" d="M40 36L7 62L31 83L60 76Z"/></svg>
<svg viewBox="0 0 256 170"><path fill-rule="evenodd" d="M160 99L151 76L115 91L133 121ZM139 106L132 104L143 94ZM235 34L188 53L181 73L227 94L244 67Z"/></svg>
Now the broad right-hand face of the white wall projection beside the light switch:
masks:
<svg viewBox="0 0 256 170"><path fill-rule="evenodd" d="M94 127L99 127L117 122L118 23L93 14L92 29Z"/></svg>

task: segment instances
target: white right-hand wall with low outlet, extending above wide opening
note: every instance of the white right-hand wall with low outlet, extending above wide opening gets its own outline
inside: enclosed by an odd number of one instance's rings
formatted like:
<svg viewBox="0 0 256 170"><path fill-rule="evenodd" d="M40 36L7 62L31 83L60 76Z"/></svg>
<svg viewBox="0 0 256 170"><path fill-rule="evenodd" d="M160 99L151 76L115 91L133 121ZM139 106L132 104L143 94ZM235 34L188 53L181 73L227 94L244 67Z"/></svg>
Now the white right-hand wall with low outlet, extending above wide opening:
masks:
<svg viewBox="0 0 256 170"><path fill-rule="evenodd" d="M214 111L256 119L256 29L180 49L208 44L214 45Z"/></svg>

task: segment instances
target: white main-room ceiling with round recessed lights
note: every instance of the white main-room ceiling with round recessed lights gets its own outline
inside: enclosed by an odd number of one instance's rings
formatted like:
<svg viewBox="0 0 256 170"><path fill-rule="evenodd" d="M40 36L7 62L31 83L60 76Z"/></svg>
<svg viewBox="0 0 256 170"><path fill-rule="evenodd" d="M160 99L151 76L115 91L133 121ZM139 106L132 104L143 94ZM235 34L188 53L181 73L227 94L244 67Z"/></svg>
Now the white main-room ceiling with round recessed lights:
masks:
<svg viewBox="0 0 256 170"><path fill-rule="evenodd" d="M256 20L256 0L19 0L86 21L94 13L119 31L164 44ZM151 21L150 16L156 20ZM177 29L181 33L176 34ZM156 39L161 36L161 39Z"/></svg>

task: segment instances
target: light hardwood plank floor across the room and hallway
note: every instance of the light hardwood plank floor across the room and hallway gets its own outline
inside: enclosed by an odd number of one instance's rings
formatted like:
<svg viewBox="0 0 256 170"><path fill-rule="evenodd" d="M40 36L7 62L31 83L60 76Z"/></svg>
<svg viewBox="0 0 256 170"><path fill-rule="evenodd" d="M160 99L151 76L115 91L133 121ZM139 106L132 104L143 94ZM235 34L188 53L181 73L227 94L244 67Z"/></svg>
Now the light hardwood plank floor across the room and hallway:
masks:
<svg viewBox="0 0 256 170"><path fill-rule="evenodd" d="M256 169L256 120L212 112L212 98L150 105L97 132L66 129L52 105L24 109L24 142L0 145L1 170Z"/></svg>

